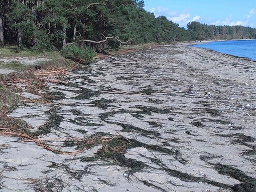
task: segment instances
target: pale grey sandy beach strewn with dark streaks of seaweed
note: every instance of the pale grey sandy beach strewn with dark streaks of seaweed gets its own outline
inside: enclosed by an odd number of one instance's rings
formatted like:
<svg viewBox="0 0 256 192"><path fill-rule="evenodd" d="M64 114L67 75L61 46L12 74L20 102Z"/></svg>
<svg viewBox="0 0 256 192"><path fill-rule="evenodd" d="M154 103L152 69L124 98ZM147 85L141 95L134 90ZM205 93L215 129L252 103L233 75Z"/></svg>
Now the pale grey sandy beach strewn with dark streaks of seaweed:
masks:
<svg viewBox="0 0 256 192"><path fill-rule="evenodd" d="M55 104L9 114L86 148L1 136L1 190L256 191L256 62L188 45L70 71L49 84Z"/></svg>

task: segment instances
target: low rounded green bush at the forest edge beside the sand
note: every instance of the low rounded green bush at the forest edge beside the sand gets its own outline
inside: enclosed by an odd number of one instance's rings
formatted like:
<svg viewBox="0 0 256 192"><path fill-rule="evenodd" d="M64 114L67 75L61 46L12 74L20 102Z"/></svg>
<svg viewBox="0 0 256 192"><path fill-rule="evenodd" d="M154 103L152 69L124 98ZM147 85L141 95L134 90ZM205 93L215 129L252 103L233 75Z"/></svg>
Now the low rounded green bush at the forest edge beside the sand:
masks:
<svg viewBox="0 0 256 192"><path fill-rule="evenodd" d="M77 45L65 46L61 50L61 54L68 59L72 59L82 64L88 64L93 61L93 57L96 56L94 49L80 48Z"/></svg>

